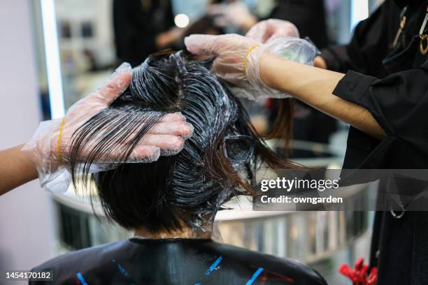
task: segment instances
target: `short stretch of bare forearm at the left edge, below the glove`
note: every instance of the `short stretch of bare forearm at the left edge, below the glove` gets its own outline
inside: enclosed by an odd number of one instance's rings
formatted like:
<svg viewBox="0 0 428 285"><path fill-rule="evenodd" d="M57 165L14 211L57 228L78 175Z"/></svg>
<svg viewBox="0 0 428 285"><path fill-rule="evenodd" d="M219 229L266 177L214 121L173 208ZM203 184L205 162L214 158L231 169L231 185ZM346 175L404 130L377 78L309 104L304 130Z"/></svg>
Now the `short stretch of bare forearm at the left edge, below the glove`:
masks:
<svg viewBox="0 0 428 285"><path fill-rule="evenodd" d="M37 178L31 154L22 145L0 151L0 195Z"/></svg>

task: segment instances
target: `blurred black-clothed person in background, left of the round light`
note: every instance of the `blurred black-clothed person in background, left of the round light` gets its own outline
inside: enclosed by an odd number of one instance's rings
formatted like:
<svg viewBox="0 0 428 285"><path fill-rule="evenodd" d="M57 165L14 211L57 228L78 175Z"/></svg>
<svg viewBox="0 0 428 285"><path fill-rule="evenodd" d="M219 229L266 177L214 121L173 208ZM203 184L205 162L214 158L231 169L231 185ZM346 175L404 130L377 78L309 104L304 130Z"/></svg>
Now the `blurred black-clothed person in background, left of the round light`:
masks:
<svg viewBox="0 0 428 285"><path fill-rule="evenodd" d="M183 34L174 26L170 0L114 0L113 28L117 58L131 66L171 47Z"/></svg>

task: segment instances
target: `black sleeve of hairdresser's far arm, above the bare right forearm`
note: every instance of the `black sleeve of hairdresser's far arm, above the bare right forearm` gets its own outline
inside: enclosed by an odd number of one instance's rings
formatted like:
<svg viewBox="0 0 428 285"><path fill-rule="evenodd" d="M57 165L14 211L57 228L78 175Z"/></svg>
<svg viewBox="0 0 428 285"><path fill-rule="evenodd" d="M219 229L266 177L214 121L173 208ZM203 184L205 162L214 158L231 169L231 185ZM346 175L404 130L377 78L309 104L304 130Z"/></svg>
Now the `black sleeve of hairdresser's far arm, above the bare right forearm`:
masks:
<svg viewBox="0 0 428 285"><path fill-rule="evenodd" d="M331 71L348 70L383 78L387 75L382 59L387 56L399 27L400 9L386 0L369 18L355 27L348 45L333 45L321 57Z"/></svg>

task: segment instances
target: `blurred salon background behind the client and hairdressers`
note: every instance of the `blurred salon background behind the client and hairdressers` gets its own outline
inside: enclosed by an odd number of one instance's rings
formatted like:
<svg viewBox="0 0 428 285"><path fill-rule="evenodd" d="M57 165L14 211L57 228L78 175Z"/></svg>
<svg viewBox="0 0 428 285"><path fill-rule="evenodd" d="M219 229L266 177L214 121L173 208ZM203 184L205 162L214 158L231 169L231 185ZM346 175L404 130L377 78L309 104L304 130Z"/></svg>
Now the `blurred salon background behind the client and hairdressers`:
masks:
<svg viewBox="0 0 428 285"><path fill-rule="evenodd" d="M245 34L257 21L277 18L296 24L301 37L322 50L348 43L353 27L381 2L2 0L0 147L28 140L43 119L62 117L123 61L138 66L153 52L181 50L189 34ZM269 131L278 101L243 103L257 130ZM348 126L301 103L294 112L292 152L284 155L306 166L340 168ZM279 138L269 145L282 152ZM365 196L363 187L355 203L365 203ZM251 212L248 203L217 215L216 238L298 259L331 284L344 284L337 268L368 256L371 218L352 205L347 212ZM87 198L72 189L44 193L38 182L0 198L0 226L0 270L27 270L66 251L131 235L96 219Z"/></svg>

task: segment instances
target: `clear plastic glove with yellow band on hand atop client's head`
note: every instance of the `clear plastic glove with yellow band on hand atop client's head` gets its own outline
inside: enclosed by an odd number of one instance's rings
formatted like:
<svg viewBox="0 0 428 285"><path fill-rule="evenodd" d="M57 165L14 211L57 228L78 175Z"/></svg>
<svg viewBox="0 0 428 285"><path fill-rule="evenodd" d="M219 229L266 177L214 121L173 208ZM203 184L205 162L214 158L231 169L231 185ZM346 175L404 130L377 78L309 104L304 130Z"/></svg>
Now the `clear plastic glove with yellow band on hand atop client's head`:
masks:
<svg viewBox="0 0 428 285"><path fill-rule="evenodd" d="M215 55L213 71L229 82L229 89L235 96L250 100L290 97L264 84L259 68L259 60L264 52L302 64L313 64L317 54L311 43L294 37L281 37L261 43L237 34L192 35L185 38L185 45L193 54Z"/></svg>

